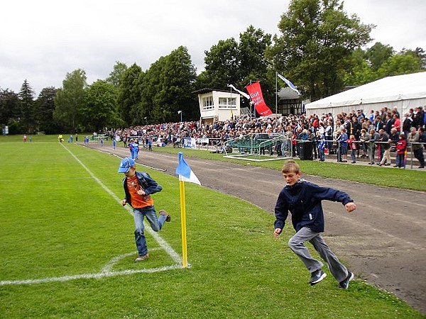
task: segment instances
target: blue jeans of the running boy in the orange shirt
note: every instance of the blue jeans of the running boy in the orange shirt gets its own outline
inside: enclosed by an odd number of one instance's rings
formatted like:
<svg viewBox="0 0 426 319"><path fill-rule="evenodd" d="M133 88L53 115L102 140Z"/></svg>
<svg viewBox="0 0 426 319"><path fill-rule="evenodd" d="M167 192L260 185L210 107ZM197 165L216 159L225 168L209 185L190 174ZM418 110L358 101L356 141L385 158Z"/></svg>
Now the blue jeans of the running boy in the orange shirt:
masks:
<svg viewBox="0 0 426 319"><path fill-rule="evenodd" d="M143 225L143 218L146 217L153 231L158 232L163 228L165 218L167 216L160 215L157 217L157 212L155 212L154 206L146 206L143 208L133 208L133 218L135 220L135 241L136 248L138 249L139 256L148 254L148 247L146 246L146 237L143 230L145 229Z"/></svg>

